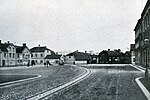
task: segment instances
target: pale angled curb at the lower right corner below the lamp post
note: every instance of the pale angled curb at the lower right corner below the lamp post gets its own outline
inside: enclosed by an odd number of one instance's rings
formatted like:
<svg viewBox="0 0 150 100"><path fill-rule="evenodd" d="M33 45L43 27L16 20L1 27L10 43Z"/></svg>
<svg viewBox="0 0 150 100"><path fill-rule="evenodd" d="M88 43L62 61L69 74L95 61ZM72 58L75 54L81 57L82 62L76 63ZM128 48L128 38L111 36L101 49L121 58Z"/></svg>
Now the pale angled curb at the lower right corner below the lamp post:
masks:
<svg viewBox="0 0 150 100"><path fill-rule="evenodd" d="M140 89L143 91L143 93L145 94L147 100L150 100L150 93L149 91L145 88L145 86L140 82L139 79L141 79L143 77L138 77L135 79L136 83L139 85Z"/></svg>

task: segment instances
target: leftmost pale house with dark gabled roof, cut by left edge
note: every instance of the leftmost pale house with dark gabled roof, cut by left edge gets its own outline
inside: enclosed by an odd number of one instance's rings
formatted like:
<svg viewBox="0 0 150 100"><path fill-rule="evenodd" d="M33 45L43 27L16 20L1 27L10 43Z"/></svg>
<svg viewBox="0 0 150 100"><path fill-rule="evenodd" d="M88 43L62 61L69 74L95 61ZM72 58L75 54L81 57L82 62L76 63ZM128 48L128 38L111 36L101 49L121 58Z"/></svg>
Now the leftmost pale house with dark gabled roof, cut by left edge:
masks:
<svg viewBox="0 0 150 100"><path fill-rule="evenodd" d="M1 43L0 40L0 66L16 65L16 47L9 41Z"/></svg>

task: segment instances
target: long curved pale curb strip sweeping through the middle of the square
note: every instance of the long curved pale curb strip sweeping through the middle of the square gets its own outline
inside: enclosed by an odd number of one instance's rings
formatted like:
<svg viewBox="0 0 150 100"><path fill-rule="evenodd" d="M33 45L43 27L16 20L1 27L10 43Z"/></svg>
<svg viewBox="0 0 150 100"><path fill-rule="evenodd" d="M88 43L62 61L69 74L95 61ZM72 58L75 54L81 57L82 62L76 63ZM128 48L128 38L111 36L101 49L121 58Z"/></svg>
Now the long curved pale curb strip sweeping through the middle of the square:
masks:
<svg viewBox="0 0 150 100"><path fill-rule="evenodd" d="M63 84L61 86L58 86L58 87L54 88L54 89L45 91L43 93L37 94L35 96L28 97L26 99L27 100L39 100L39 99L43 99L43 98L48 97L49 95L51 95L51 94L53 94L55 92L58 92L58 91L61 91L61 90L65 89L65 88L67 88L67 87L70 87L70 86L72 86L72 85L74 85L74 84L76 84L76 83L84 80L86 77L88 77L91 74L90 70L88 70L86 68L85 68L85 70L86 70L86 72L84 74L82 74L81 76L77 77L76 79L74 79L74 80L72 80L72 81L70 81L68 83L65 83L65 84Z"/></svg>

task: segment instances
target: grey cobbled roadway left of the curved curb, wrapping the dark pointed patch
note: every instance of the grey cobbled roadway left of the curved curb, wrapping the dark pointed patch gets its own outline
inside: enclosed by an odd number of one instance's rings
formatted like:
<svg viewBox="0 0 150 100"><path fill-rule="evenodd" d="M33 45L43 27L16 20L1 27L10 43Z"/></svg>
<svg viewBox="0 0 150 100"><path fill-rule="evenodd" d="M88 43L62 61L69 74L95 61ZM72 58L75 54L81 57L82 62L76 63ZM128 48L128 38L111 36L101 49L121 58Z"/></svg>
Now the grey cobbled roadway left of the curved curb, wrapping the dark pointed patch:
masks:
<svg viewBox="0 0 150 100"><path fill-rule="evenodd" d="M49 68L33 68L25 70L3 71L1 74L41 74L43 77L19 84L0 87L0 100L22 100L41 92L55 88L81 75L83 68L72 66L50 66Z"/></svg>

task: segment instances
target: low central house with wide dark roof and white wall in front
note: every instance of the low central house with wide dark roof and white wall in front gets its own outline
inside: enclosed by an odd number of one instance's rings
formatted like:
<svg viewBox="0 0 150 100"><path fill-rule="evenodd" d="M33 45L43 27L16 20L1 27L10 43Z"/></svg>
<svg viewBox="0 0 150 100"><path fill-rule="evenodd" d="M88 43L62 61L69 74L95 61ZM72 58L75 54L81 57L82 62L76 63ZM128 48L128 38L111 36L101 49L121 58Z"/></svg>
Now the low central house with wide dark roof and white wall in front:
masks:
<svg viewBox="0 0 150 100"><path fill-rule="evenodd" d="M90 54L74 51L65 56L66 64L89 64L91 61Z"/></svg>

